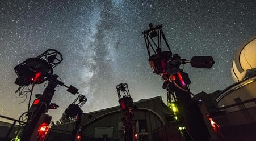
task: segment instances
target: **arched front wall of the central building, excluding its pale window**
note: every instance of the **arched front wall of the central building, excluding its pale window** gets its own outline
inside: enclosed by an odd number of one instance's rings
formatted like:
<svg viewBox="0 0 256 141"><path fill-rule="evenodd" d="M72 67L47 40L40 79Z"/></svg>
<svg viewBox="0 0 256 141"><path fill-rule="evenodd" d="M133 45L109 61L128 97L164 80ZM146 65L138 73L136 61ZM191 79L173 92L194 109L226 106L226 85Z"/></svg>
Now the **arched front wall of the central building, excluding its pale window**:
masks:
<svg viewBox="0 0 256 141"><path fill-rule="evenodd" d="M133 103L136 105L137 110L133 111L133 120L137 120L137 132L139 136L143 136L146 140L153 140L153 131L158 127L166 124L166 116L171 116L173 113L162 102L161 96L152 99L140 100ZM123 122L123 112L120 111L119 106L103 109L101 111L95 111L86 113L82 118L82 125L85 125L84 134L88 134L90 139L95 137L95 129L105 127L106 130L113 127L112 138L108 140L122 140L123 131L121 126ZM102 118L99 118L103 116ZM140 122L146 123L146 129L140 129ZM140 129L140 130L139 130Z"/></svg>

